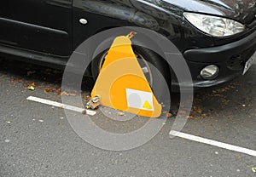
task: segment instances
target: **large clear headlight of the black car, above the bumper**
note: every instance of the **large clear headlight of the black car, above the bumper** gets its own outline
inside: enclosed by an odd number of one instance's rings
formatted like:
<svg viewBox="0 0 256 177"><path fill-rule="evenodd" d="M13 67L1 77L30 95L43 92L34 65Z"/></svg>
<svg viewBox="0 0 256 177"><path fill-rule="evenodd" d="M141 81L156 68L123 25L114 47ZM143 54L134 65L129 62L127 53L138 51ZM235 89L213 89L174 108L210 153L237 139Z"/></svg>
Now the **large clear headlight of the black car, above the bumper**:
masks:
<svg viewBox="0 0 256 177"><path fill-rule="evenodd" d="M245 30L245 26L235 20L188 12L183 15L193 26L213 37L227 37Z"/></svg>

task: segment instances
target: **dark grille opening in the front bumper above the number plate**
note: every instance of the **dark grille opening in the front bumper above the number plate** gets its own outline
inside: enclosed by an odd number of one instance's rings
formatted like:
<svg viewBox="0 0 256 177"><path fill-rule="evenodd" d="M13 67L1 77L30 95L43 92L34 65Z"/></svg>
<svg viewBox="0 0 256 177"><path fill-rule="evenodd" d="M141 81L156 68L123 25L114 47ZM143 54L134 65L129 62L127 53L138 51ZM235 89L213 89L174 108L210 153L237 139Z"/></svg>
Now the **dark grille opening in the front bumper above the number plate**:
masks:
<svg viewBox="0 0 256 177"><path fill-rule="evenodd" d="M242 51L240 54L231 56L230 60L228 60L228 68L230 70L242 70L247 60L249 60L250 57L254 54L255 49L256 45L252 48Z"/></svg>

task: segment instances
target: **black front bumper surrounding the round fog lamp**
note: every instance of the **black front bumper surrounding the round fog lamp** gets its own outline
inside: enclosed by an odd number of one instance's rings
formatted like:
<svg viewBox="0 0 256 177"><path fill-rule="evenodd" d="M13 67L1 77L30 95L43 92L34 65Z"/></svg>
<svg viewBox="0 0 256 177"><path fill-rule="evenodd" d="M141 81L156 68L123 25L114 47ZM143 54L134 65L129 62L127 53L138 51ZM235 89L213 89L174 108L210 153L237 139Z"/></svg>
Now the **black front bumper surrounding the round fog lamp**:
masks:
<svg viewBox="0 0 256 177"><path fill-rule="evenodd" d="M183 53L183 57L189 66L196 91L201 88L214 88L241 76L247 60L253 56L255 51L256 27L253 33L239 41L212 48L189 49ZM219 67L218 77L211 80L203 79L201 70L210 65ZM178 83L176 78L172 78L174 92L179 88L191 88L186 84L186 82Z"/></svg>

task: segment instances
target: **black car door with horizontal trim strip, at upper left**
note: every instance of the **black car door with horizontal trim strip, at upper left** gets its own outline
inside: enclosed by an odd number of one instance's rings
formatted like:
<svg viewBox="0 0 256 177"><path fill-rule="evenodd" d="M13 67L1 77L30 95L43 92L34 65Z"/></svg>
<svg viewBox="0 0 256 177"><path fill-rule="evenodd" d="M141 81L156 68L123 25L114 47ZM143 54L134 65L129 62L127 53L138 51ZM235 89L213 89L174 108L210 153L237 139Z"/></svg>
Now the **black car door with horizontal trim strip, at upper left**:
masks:
<svg viewBox="0 0 256 177"><path fill-rule="evenodd" d="M0 43L45 54L72 53L73 0L0 3Z"/></svg>

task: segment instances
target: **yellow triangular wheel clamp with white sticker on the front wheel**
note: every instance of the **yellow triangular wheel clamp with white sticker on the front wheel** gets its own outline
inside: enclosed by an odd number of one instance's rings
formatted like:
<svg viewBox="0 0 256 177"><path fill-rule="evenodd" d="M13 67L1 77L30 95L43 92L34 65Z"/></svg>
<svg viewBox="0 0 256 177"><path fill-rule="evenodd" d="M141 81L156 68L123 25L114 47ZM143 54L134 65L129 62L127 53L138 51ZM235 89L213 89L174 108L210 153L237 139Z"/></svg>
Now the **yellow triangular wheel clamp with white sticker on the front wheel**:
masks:
<svg viewBox="0 0 256 177"><path fill-rule="evenodd" d="M160 117L162 106L155 99L137 57L131 37L116 37L108 51L91 97L98 96L102 106L143 117Z"/></svg>

